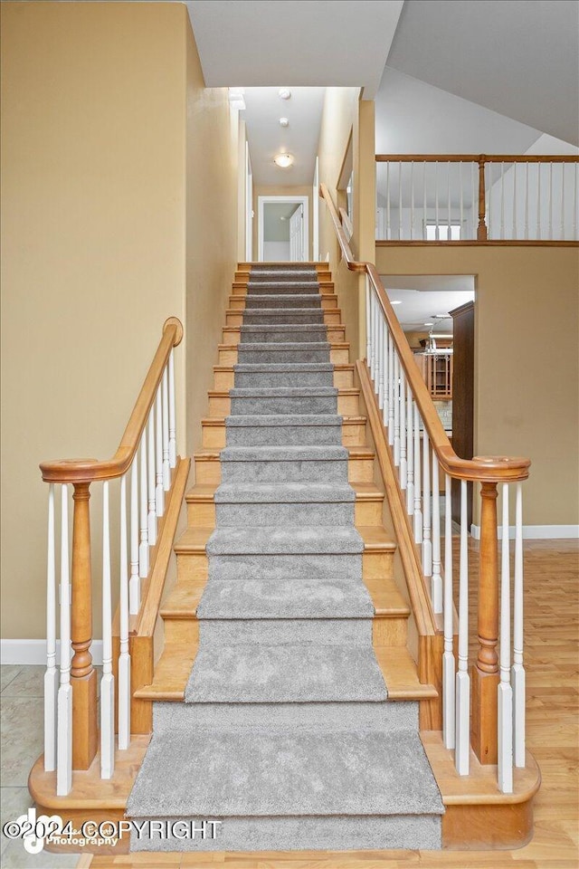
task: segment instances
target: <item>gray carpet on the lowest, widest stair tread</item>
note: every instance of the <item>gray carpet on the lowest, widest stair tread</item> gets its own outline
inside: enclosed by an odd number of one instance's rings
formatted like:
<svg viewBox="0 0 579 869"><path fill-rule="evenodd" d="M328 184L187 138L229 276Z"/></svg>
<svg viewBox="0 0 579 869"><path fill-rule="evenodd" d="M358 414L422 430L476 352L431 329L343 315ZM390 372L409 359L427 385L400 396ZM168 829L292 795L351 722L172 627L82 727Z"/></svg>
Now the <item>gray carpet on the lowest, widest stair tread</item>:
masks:
<svg viewBox="0 0 579 869"><path fill-rule="evenodd" d="M374 705L374 704L373 704ZM153 736L128 816L424 815L443 812L417 731L195 732ZM159 788L163 769L165 788ZM155 782L155 784L153 784Z"/></svg>

